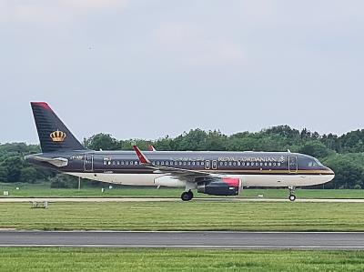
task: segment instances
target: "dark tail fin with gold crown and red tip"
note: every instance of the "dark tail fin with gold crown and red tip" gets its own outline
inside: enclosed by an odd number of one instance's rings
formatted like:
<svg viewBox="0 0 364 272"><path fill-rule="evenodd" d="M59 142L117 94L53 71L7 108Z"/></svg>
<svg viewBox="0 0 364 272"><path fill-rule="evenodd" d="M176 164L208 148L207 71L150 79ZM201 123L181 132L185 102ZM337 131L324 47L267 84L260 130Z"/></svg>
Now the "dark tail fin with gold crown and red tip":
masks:
<svg viewBox="0 0 364 272"><path fill-rule="evenodd" d="M85 149L48 104L32 102L31 106L43 153Z"/></svg>

